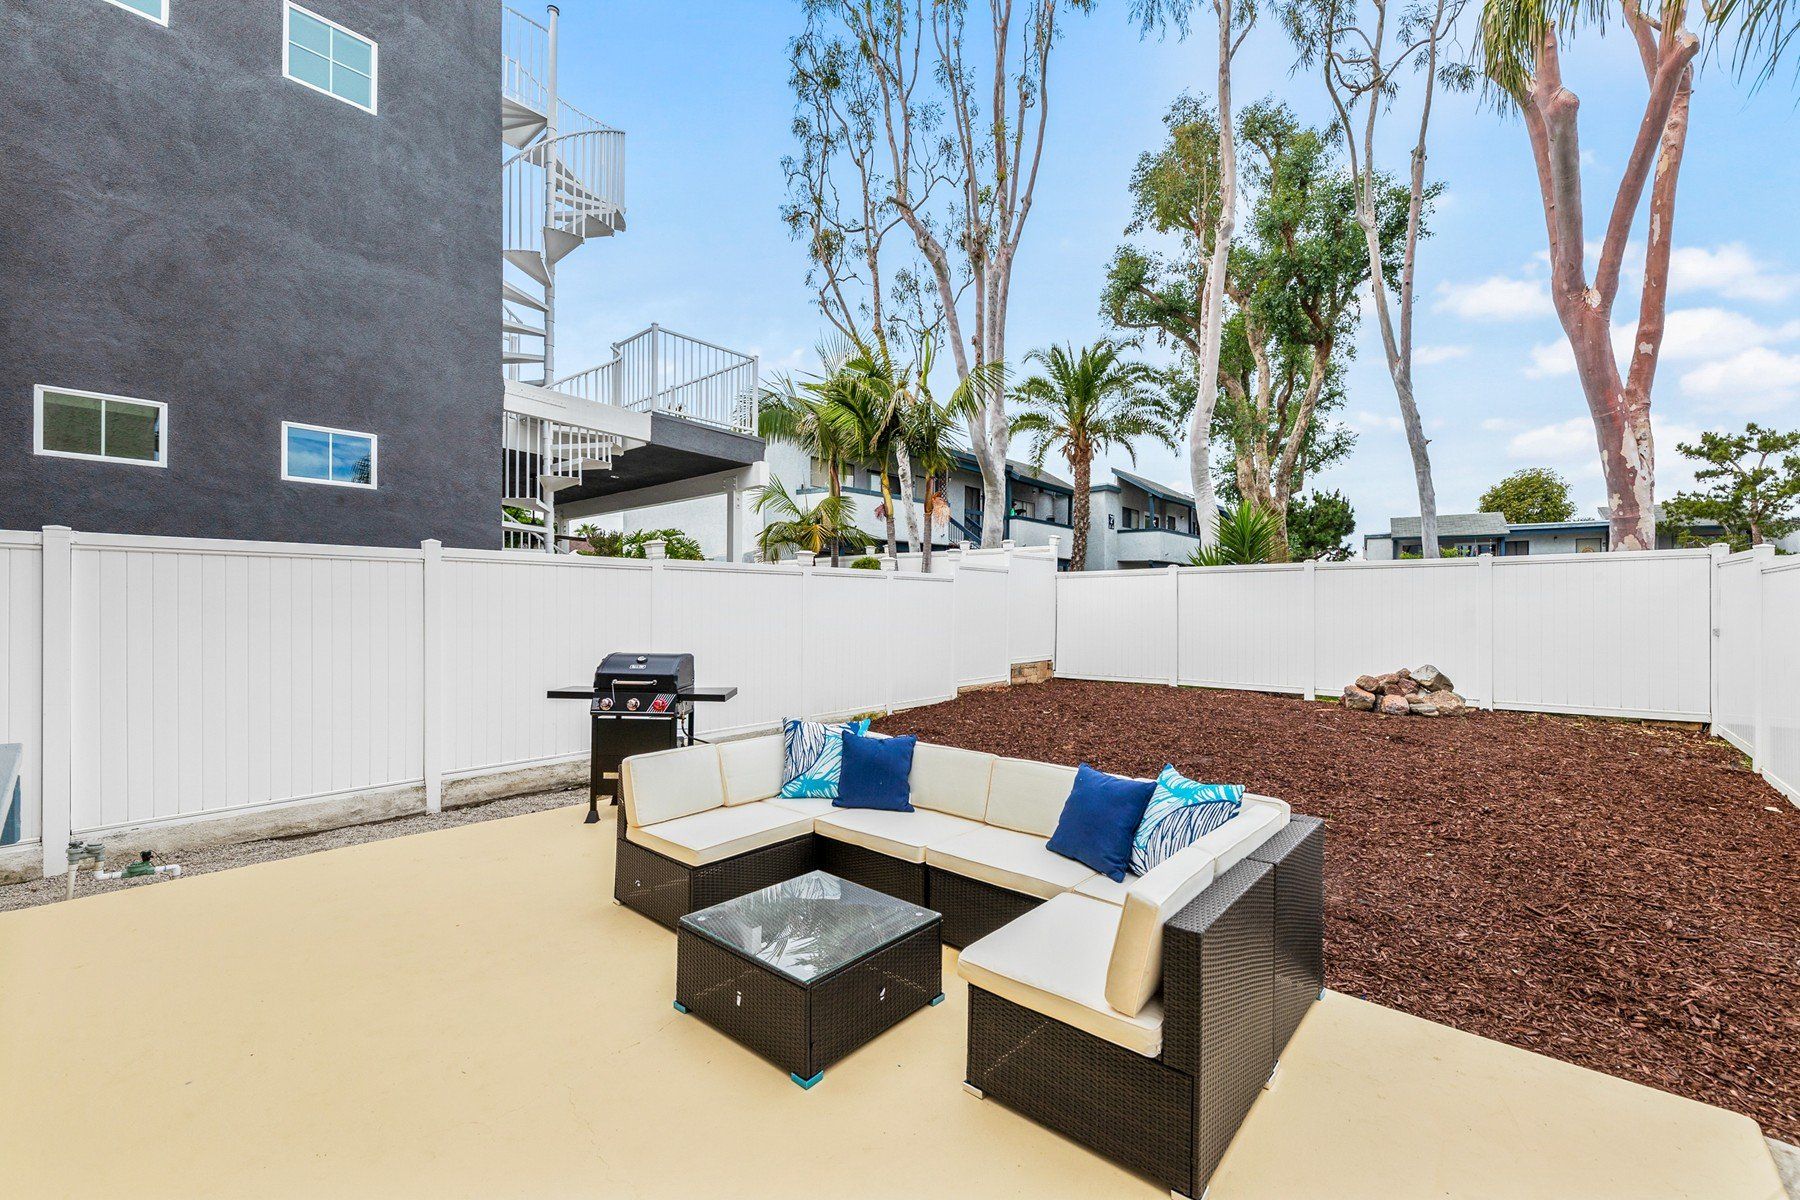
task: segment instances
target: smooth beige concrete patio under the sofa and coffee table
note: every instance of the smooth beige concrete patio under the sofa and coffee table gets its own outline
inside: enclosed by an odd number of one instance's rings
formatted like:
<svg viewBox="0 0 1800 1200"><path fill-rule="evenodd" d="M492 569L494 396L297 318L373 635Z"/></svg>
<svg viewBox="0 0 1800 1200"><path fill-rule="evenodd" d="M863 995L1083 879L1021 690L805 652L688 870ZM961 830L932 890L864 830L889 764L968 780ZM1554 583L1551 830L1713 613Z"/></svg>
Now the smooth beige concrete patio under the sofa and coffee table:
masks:
<svg viewBox="0 0 1800 1200"><path fill-rule="evenodd" d="M553 810L0 916L20 1196L1156 1196L965 1096L967 991L812 1092L670 1007ZM1757 1126L1328 995L1213 1200L1780 1200Z"/></svg>

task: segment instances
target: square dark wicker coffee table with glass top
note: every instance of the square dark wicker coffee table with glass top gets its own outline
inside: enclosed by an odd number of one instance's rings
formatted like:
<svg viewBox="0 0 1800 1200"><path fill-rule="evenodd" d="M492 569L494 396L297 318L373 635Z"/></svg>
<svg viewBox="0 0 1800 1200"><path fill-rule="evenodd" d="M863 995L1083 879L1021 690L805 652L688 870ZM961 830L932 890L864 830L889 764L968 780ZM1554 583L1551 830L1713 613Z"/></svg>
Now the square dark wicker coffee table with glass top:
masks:
<svg viewBox="0 0 1800 1200"><path fill-rule="evenodd" d="M943 999L943 918L824 871L689 912L675 1007L810 1088L875 1034Z"/></svg>

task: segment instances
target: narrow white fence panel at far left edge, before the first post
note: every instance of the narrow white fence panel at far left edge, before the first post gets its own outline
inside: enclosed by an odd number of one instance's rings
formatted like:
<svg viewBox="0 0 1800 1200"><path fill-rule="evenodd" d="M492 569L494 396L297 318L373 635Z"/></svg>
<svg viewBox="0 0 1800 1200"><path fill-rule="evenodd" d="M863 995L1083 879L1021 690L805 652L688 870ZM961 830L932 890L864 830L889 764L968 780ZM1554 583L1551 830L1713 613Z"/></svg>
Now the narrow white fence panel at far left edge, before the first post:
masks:
<svg viewBox="0 0 1800 1200"><path fill-rule="evenodd" d="M41 534L0 533L0 743L23 748L18 844L43 831L43 549ZM4 786L4 781L0 781ZM4 817L11 795L0 795Z"/></svg>

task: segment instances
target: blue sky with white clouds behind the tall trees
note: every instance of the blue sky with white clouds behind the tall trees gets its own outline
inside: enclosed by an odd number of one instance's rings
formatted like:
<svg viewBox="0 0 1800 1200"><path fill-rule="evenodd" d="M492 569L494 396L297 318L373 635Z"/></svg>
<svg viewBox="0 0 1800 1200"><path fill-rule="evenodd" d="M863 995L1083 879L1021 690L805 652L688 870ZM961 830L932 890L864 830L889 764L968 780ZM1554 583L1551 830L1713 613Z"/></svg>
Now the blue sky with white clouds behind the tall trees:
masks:
<svg viewBox="0 0 1800 1200"><path fill-rule="evenodd" d="M801 248L778 219L792 115L785 45L799 29L799 5L571 0L562 9L565 95L628 131L630 230L565 263L560 367L599 362L610 342L653 320L758 353L765 371L810 365L819 320ZM1287 41L1265 22L1240 56L1238 103L1273 94L1323 124L1323 90L1291 67ZM1139 38L1127 5L1102 0L1067 23L1053 72L1049 146L1013 282L1008 338L1019 349L1107 333L1096 299L1129 218L1130 167L1157 144L1170 99L1208 90L1213 59L1204 38ZM1566 79L1582 97L1597 241L1642 115L1643 77L1615 29L1579 41ZM1786 74L1762 92L1721 67L1701 74L1656 389L1658 495L1690 480L1674 443L1701 428L1800 425L1795 104ZM1406 124L1393 121L1382 149L1393 169L1404 166ZM1445 196L1420 257L1417 387L1440 511L1472 509L1490 482L1521 466L1561 470L1582 511L1593 511L1604 498L1593 426L1544 286L1544 221L1525 130L1478 97L1440 97L1429 173ZM1620 320L1633 317L1634 282L1627 273ZM1417 513L1372 317L1343 419L1359 444L1318 482L1350 497L1361 531ZM1184 459L1159 446L1139 450L1139 470L1188 482Z"/></svg>

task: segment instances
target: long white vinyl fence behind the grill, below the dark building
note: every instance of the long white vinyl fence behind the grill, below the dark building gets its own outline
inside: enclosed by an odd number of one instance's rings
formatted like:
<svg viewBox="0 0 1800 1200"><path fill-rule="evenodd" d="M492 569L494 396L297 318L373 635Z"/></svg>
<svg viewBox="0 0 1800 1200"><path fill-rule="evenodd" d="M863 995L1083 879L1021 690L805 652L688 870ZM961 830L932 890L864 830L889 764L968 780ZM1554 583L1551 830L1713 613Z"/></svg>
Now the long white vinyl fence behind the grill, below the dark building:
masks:
<svg viewBox="0 0 1800 1200"><path fill-rule="evenodd" d="M945 574L0 533L0 743L22 846L581 759L549 700L616 649L693 651L702 736L949 700L1049 657L1037 554ZM1013 579L1013 572L1021 579ZM1021 599L1024 597L1024 599ZM1024 633L1017 633L1024 630ZM1021 640L1021 646L1026 642ZM5 853L5 851L0 851Z"/></svg>

